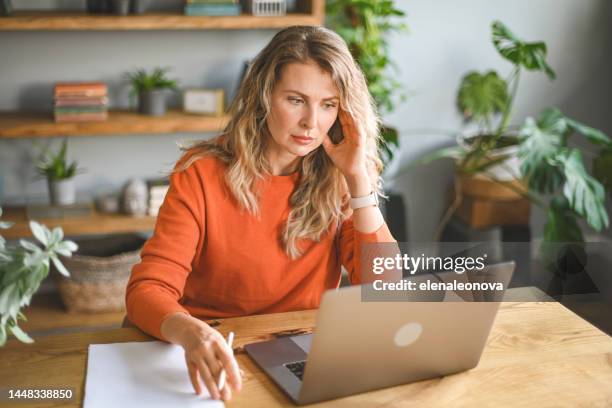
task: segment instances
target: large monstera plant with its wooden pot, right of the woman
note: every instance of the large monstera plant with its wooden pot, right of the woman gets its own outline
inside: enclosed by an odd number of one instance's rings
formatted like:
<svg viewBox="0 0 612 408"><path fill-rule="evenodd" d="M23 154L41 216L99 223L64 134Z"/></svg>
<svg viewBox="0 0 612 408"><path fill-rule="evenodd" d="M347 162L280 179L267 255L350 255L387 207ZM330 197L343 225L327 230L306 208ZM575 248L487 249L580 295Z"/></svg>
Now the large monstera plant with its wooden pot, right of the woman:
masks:
<svg viewBox="0 0 612 408"><path fill-rule="evenodd" d="M467 122L477 125L473 135L460 135L458 146L443 148L423 159L427 163L452 158L456 163L455 198L438 228L442 228L459 207L464 195L478 194L505 199L523 197L548 212L544 227L545 241L583 241L578 218L596 231L608 227L605 188L598 181L612 174L612 141L597 129L548 108L537 120L527 118L510 127L510 117L518 82L523 69L544 72L551 80L555 73L546 62L546 44L525 42L503 23L492 24L492 40L499 54L513 64L507 80L495 71L470 72L459 86L457 106ZM497 122L497 123L495 123ZM582 149L570 146L574 134L600 146L594 160L596 177L588 173ZM604 175L608 175L607 179ZM477 191L475 191L477 190ZM545 195L552 194L547 202Z"/></svg>

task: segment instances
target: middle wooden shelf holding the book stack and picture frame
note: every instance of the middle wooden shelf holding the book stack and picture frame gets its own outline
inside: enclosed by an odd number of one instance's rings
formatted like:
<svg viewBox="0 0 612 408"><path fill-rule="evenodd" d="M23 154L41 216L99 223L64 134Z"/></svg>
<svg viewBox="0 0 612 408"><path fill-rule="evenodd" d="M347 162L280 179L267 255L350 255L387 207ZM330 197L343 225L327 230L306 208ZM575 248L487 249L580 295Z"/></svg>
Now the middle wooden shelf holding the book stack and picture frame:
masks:
<svg viewBox="0 0 612 408"><path fill-rule="evenodd" d="M56 123L52 114L46 112L0 112L0 138L218 132L228 120L228 116L200 116L180 111L169 111L165 116L110 111L108 120L103 122Z"/></svg>

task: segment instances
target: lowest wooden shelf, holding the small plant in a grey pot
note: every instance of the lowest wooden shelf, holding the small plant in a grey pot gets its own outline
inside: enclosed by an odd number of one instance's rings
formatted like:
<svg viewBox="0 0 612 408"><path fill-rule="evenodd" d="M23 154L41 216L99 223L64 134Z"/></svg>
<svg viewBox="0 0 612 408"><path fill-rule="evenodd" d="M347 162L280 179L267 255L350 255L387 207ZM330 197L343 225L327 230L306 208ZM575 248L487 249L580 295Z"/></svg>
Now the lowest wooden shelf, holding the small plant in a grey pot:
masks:
<svg viewBox="0 0 612 408"><path fill-rule="evenodd" d="M8 207L2 209L2 221L15 223L11 228L2 230L6 239L29 238L32 236L25 208ZM129 232L150 232L155 228L156 217L132 217L122 214L94 213L88 217L75 218L42 218L36 221L49 228L62 227L64 235L101 235L120 234Z"/></svg>

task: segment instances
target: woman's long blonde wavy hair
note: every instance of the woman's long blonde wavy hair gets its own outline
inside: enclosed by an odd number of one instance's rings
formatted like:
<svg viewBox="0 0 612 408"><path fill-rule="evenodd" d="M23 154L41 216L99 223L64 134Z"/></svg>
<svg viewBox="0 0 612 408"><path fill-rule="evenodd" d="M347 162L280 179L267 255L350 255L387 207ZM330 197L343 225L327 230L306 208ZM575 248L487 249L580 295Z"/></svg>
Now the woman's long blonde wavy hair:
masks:
<svg viewBox="0 0 612 408"><path fill-rule="evenodd" d="M230 121L223 132L187 148L175 171L189 167L205 155L227 166L227 186L243 209L259 214L256 183L270 176L266 148L271 138L267 118L271 96L282 69L290 63L315 62L328 72L339 91L340 109L357 118L366 134L366 160L372 190L381 194L382 162L378 154L380 122L365 77L340 36L323 27L294 26L277 33L250 64L230 107ZM330 137L337 142L340 129ZM303 157L300 179L290 198L289 216L279 241L287 255L302 254L299 240L320 241L330 227L350 217L348 187L342 173L319 146Z"/></svg>

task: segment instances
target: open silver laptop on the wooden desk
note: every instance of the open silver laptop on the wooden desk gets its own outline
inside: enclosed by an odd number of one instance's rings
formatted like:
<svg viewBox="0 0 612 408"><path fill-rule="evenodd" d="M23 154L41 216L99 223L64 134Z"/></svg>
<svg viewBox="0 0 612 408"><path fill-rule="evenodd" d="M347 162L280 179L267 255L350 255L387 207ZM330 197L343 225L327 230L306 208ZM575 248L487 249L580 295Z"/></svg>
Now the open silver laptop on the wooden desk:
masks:
<svg viewBox="0 0 612 408"><path fill-rule="evenodd" d="M459 276L497 280L505 290L514 267L501 263ZM453 301L362 302L360 286L329 290L313 334L245 350L299 405L465 371L480 360L501 297L481 302L441 292Z"/></svg>

